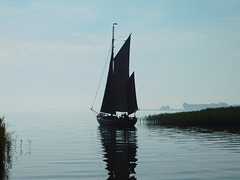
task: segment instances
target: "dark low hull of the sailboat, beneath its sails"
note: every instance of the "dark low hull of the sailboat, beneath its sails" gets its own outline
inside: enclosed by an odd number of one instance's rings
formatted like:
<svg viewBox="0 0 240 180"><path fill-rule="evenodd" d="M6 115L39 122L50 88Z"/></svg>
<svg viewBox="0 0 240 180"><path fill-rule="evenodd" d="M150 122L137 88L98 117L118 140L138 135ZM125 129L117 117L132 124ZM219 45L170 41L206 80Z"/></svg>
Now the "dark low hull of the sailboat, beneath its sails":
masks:
<svg viewBox="0 0 240 180"><path fill-rule="evenodd" d="M97 116L97 121L100 124L100 126L113 126L113 127L134 127L134 125L137 122L136 117L102 117Z"/></svg>

